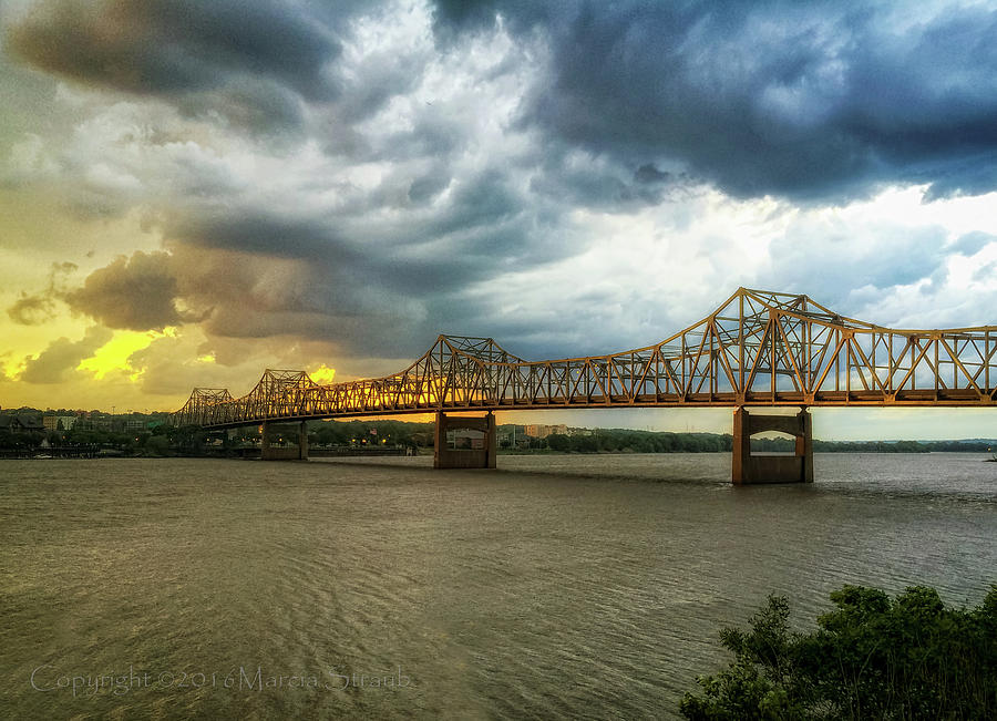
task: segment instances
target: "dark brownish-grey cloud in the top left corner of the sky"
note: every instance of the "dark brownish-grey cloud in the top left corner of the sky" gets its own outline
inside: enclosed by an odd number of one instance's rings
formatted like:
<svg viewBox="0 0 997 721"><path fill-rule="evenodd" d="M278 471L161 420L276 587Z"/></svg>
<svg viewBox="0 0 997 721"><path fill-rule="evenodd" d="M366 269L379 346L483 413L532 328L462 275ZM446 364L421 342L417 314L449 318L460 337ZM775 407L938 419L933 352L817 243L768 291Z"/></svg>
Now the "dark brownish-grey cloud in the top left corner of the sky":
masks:
<svg viewBox="0 0 997 721"><path fill-rule="evenodd" d="M48 72L250 127L295 123L298 95L331 97L323 69L341 51L307 6L279 0L43 0L10 45Z"/></svg>

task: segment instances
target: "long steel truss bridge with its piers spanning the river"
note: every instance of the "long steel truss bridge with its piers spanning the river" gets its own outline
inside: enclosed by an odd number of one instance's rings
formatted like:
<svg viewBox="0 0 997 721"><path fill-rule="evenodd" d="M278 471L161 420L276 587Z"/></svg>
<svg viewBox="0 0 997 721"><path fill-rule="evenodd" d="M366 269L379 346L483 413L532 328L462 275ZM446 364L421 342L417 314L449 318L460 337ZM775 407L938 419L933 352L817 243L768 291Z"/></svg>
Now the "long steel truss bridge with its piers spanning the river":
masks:
<svg viewBox="0 0 997 721"><path fill-rule="evenodd" d="M491 338L440 336L407 369L383 378L319 384L305 371L267 370L241 398L197 388L169 422L264 424L268 457L269 423L433 412L436 467L494 467L495 411L730 406L731 476L752 483L811 481L806 409L851 405L997 406L997 326L884 328L805 295L739 288L712 313L654 346L526 361ZM761 415L751 406L801 410ZM448 416L467 411L486 415ZM448 431L455 428L482 433L484 447L453 447ZM763 431L796 436L796 455L752 455L749 439ZM298 457L307 457L307 442Z"/></svg>

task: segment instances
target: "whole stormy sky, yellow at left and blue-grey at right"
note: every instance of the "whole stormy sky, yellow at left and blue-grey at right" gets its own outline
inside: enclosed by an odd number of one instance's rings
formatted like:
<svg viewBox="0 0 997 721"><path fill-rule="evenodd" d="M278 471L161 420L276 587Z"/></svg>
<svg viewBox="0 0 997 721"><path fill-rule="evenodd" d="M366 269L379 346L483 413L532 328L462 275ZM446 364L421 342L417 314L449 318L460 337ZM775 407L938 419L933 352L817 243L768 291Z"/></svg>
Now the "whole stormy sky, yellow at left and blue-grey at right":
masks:
<svg viewBox="0 0 997 721"><path fill-rule="evenodd" d="M739 286L885 326L997 323L989 3L0 13L3 406L382 374L440 332L606 353ZM826 412L815 431L997 436L993 415Z"/></svg>

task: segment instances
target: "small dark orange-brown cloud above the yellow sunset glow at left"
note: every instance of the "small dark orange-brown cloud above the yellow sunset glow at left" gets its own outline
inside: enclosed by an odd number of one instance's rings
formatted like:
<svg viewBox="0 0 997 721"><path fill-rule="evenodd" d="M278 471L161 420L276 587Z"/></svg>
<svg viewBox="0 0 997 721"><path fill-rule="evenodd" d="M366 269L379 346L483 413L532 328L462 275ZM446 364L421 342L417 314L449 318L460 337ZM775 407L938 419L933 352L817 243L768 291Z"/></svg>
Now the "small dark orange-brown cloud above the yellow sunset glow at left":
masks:
<svg viewBox="0 0 997 721"><path fill-rule="evenodd" d="M63 298L70 308L109 328L162 330L194 320L176 308L177 279L166 253L136 251L94 270Z"/></svg>

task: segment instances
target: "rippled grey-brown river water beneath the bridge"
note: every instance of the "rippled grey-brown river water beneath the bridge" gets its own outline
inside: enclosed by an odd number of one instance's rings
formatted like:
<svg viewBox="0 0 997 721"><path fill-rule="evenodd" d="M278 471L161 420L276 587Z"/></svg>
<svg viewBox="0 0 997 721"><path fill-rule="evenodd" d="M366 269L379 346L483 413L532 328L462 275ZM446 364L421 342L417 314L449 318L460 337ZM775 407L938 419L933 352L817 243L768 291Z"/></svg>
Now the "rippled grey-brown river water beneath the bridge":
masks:
<svg viewBox="0 0 997 721"><path fill-rule="evenodd" d="M0 718L675 718L771 593L977 605L984 457L6 461Z"/></svg>

